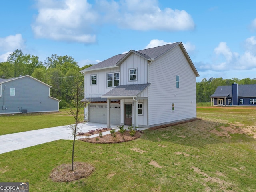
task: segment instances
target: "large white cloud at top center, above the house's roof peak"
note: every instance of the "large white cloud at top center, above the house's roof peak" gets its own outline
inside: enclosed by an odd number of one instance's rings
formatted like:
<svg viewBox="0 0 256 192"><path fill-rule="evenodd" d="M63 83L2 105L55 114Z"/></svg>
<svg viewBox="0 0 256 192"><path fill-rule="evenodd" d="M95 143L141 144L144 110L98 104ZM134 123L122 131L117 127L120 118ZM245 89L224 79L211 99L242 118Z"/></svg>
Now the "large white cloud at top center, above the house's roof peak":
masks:
<svg viewBox="0 0 256 192"><path fill-rule="evenodd" d="M185 10L158 7L157 0L124 0L112 18L121 28L133 30L179 31L193 30L194 21Z"/></svg>

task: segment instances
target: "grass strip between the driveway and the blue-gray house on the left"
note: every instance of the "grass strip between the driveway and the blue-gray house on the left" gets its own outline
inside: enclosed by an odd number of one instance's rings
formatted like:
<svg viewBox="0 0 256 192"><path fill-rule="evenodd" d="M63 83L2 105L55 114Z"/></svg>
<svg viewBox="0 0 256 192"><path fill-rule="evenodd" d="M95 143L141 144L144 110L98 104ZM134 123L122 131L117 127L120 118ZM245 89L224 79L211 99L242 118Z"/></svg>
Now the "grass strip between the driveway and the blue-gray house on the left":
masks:
<svg viewBox="0 0 256 192"><path fill-rule="evenodd" d="M74 118L67 111L69 109L48 113L2 114L0 135L73 124Z"/></svg>

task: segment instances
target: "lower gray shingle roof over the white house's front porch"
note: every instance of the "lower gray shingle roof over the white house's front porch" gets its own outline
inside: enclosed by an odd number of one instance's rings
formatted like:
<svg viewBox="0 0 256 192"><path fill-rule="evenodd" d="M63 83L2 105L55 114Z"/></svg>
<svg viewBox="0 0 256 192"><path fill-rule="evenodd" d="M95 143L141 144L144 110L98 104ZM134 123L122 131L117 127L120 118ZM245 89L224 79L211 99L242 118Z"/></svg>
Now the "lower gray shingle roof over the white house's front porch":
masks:
<svg viewBox="0 0 256 192"><path fill-rule="evenodd" d="M135 85L118 85L106 94L102 96L108 96L108 97L113 97L113 96L137 96L142 92L144 89L146 89L150 83L146 84L135 84Z"/></svg>

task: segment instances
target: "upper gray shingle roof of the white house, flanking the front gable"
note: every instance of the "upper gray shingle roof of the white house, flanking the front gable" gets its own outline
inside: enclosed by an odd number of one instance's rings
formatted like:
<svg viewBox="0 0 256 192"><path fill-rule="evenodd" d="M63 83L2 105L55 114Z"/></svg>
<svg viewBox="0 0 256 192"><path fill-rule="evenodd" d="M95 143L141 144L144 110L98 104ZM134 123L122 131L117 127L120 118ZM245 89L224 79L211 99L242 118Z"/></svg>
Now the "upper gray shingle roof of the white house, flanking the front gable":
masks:
<svg viewBox="0 0 256 192"><path fill-rule="evenodd" d="M167 52L171 48L174 48L175 46L177 46L180 43L181 42L177 42L177 43L172 43L172 44L167 44L167 45L163 45L163 46L143 49L143 50L134 51L134 52L137 52L137 54L140 54L143 57L148 58L148 59L150 59L150 58L156 59L156 58L158 58L159 56L161 56L162 54L164 54L165 52ZM100 68L115 66L115 64L118 63L118 61L120 61L125 55L126 54L120 54L120 55L113 56L111 58L108 58L107 60L99 62L98 64L95 64L91 67L88 67L88 68L86 68L82 71L88 71L88 70L94 70L94 69L100 69Z"/></svg>

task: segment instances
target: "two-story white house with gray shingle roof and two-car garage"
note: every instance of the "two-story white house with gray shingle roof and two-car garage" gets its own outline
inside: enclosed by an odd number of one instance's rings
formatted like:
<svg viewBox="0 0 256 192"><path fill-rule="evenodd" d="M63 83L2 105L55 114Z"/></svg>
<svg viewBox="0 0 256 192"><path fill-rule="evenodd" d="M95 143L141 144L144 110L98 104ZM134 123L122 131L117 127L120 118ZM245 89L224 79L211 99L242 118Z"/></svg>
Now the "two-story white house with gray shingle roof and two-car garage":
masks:
<svg viewBox="0 0 256 192"><path fill-rule="evenodd" d="M196 77L182 42L113 56L80 71L88 122L150 128L196 118Z"/></svg>

